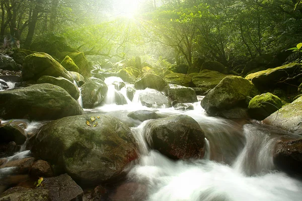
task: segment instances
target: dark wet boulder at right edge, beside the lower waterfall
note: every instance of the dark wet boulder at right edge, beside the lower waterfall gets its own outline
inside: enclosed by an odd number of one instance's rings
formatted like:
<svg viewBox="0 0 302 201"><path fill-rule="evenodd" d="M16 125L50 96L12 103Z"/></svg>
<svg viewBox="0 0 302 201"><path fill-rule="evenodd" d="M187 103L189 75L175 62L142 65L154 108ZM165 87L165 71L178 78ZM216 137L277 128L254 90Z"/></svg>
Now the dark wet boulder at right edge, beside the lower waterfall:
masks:
<svg viewBox="0 0 302 201"><path fill-rule="evenodd" d="M278 142L273 161L277 168L288 174L302 175L302 139Z"/></svg>

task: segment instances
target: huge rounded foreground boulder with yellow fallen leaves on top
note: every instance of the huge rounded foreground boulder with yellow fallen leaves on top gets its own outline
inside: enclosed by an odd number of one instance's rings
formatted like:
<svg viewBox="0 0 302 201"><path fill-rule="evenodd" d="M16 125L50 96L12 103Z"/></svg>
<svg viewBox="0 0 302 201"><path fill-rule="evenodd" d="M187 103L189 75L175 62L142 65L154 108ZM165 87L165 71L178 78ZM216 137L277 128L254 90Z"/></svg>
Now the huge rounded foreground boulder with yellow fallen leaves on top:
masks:
<svg viewBox="0 0 302 201"><path fill-rule="evenodd" d="M82 183L121 177L138 157L135 138L126 123L114 117L94 114L94 121L91 117L66 117L44 125L33 140L32 154Z"/></svg>

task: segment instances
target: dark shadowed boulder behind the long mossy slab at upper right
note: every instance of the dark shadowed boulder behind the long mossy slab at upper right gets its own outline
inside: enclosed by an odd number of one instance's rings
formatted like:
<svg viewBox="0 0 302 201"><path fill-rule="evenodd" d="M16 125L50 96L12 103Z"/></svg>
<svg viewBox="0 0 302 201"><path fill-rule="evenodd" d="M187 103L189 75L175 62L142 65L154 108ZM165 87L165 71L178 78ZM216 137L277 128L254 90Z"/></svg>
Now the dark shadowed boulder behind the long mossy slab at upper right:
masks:
<svg viewBox="0 0 302 201"><path fill-rule="evenodd" d="M275 56L271 54L263 54L249 61L245 65L242 74L243 75L249 74L250 71L256 68L265 68L265 69L274 68L277 67L279 64L280 62Z"/></svg>

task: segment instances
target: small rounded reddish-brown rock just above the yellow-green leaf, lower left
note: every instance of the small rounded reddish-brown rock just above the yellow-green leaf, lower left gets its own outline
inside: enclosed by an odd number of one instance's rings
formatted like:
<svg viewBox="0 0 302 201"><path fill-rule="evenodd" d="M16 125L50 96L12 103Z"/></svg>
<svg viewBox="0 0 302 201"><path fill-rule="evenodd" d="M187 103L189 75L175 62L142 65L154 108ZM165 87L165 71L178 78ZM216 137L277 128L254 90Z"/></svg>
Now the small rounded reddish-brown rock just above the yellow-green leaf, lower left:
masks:
<svg viewBox="0 0 302 201"><path fill-rule="evenodd" d="M34 162L30 168L29 173L32 177L36 177L36 178L53 176L53 172L50 164L44 160L38 160Z"/></svg>

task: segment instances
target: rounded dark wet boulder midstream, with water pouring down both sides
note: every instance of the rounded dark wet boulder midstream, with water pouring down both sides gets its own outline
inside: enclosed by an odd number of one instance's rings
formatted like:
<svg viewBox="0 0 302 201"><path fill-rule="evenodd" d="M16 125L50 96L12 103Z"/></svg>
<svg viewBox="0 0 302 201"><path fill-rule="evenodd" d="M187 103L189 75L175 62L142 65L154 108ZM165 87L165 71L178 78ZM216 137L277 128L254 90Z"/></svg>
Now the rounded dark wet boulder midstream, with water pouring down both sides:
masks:
<svg viewBox="0 0 302 201"><path fill-rule="evenodd" d="M172 159L204 156L204 132L186 115L174 115L147 123L145 139L150 147Z"/></svg>

